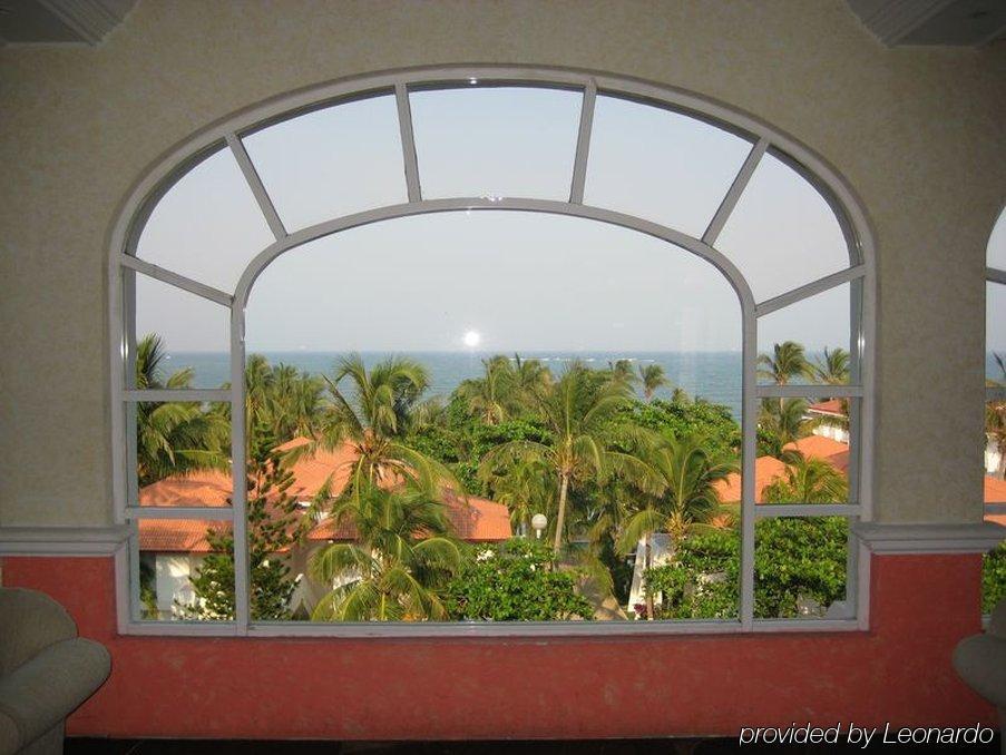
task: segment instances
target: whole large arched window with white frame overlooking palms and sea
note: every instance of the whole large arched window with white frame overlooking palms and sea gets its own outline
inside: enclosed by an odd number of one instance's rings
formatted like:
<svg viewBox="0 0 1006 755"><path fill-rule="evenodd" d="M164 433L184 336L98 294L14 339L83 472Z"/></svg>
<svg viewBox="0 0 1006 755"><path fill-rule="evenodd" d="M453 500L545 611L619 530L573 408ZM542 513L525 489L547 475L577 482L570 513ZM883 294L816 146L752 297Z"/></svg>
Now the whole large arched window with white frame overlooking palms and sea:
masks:
<svg viewBox="0 0 1006 755"><path fill-rule="evenodd" d="M460 261L472 248L479 255ZM335 256L344 262L332 274L323 262ZM123 627L380 635L861 626L859 551L848 524L871 511L872 264L863 213L819 157L752 117L639 81L417 69L301 91L215 125L140 182L114 234L115 500L130 527ZM378 301L383 330L368 320ZM491 333L475 327L480 318L494 323ZM319 323L349 335L329 343ZM653 323L666 323L674 337L663 341ZM453 340L438 341L438 326ZM724 329L731 335L717 340ZM364 353L359 363L344 356L341 371L334 359L314 369L304 354L289 357L293 370L252 359L254 351L296 352L309 331L326 351ZM613 340L627 331L648 335ZM202 353L173 352L179 343ZM441 347L455 356L427 364L422 385L410 383L410 365L402 371L365 353ZM730 365L719 388L709 380L720 369L709 366L716 350ZM563 356L548 364L546 352ZM459 354L468 372L450 366ZM560 359L572 361L560 366ZM663 372L645 383L649 362ZM450 373L445 393L466 383L475 398L457 405L482 412L479 426L491 428L508 411L490 395L494 381L525 380L521 370L546 375L544 388L521 389L537 408L530 429L508 425L517 434L486 440L492 432L482 428L486 453L461 460L434 448L433 431L403 442L407 421L426 426L417 418L452 411L421 401L427 381ZM684 393L672 396L655 375ZM584 441L589 421L574 418L583 432L572 433L569 447L580 457L564 467L556 461L561 422L549 425L548 412L567 389L576 399L566 411L593 401L615 406L609 419L618 428L627 414L651 419L585 451L597 439ZM263 421L276 401L270 391L293 403ZM658 402L647 403L654 391ZM329 423L291 410L294 394ZM736 422L715 460L707 448L671 455L682 451L668 443L687 439L665 424L688 411ZM353 432L357 443L346 445ZM475 453L469 441L466 453ZM509 441L524 445L498 450ZM388 451L399 442L409 448ZM520 469L518 450L527 451ZM374 462L370 453L385 455ZM675 503L667 475L661 482L654 471L655 453L692 459L713 474L703 500L715 511ZM713 461L725 465L711 472ZM443 468L449 474L438 477ZM577 477L584 468L604 468L589 491L582 482L589 474ZM541 507L551 507L544 524L531 517L544 511L518 506L538 494L520 486L543 482L549 502ZM480 484L488 488L477 494ZM433 519L422 519L420 499L434 499ZM563 513L570 501L593 513L570 524ZM615 501L624 503L617 511ZM395 571L381 558L387 541L364 537L373 522L361 511L401 514L402 507L421 523L406 536L395 530L407 561ZM450 541L441 553L437 517L446 517ZM602 520L612 548L634 547L592 551ZM729 535L703 540L714 526ZM538 548L535 530L554 548ZM301 548L305 537L309 546L314 537L313 550ZM515 552L540 558L541 571L568 587L556 599L570 601L548 619L603 618L604 601L588 598L605 579L592 569L602 557L612 573L621 562L631 597L613 610L625 620L472 620L494 616L458 609L485 596L458 587L461 567L437 560L453 559L452 548L468 553L465 573L472 584L488 580L478 590L490 598L498 586L479 563L497 559L502 570ZM804 586L780 579L805 566L808 552L838 566L808 575ZM389 580L411 585L438 568L450 571L438 590L399 586L393 610L371 610L368 601L387 597ZM309 572L321 575L321 592ZM815 580L830 587L807 587ZM724 606L696 607L696 595L720 596ZM583 600L594 616L582 616ZM275 621L312 612L329 620ZM441 621L449 616L467 620Z"/></svg>

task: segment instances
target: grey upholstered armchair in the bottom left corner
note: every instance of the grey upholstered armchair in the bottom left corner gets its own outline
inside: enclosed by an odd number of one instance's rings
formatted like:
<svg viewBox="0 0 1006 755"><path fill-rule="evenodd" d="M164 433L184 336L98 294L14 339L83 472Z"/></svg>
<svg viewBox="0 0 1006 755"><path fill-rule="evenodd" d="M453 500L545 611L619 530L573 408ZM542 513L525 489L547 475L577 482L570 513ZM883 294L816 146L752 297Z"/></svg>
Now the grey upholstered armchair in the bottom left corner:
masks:
<svg viewBox="0 0 1006 755"><path fill-rule="evenodd" d="M108 650L78 638L52 598L0 588L0 755L61 753L66 717L110 668Z"/></svg>

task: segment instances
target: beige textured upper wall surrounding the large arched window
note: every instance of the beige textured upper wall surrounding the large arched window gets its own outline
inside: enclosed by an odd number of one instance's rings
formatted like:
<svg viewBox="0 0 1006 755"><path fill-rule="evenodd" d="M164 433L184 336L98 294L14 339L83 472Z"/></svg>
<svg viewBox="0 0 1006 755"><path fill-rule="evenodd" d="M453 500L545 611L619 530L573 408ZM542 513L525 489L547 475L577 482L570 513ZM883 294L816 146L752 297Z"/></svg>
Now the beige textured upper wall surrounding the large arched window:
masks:
<svg viewBox="0 0 1006 755"><path fill-rule="evenodd" d="M888 50L841 0L141 0L97 49L0 50L0 524L111 519L106 243L144 169L290 89L458 61L691 89L836 165L878 242L879 518L977 520L1003 45Z"/></svg>

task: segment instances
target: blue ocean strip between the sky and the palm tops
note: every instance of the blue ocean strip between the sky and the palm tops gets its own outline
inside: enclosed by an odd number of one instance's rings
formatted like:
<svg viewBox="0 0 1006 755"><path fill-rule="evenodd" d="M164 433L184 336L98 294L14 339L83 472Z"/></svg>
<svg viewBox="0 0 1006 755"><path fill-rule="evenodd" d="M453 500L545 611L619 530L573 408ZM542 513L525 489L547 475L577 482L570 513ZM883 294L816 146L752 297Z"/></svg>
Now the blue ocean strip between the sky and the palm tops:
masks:
<svg viewBox="0 0 1006 755"><path fill-rule="evenodd" d="M290 364L312 374L331 374L339 352L283 351L261 353L272 364ZM428 395L450 395L458 383L482 373L482 360L492 356L488 352L395 352L409 356L430 371ZM392 355L390 352L364 352L363 362L370 366ZM224 352L172 352L168 354L167 371L183 367L195 371L195 388L219 388L231 380L231 367ZM740 352L522 352L521 359L541 360L554 373L559 373L573 360L580 360L594 369L607 367L608 363L627 359L633 366L660 364L664 367L671 385L656 392L657 398L668 399L675 388L684 389L688 395L724 404L741 416L741 354Z"/></svg>

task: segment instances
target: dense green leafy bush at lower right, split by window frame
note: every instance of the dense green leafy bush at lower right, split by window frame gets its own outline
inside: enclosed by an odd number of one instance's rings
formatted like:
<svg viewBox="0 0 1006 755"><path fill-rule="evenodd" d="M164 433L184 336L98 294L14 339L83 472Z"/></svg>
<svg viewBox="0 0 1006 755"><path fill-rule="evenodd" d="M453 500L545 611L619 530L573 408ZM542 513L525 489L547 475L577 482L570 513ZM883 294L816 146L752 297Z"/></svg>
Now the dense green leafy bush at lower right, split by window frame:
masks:
<svg viewBox="0 0 1006 755"><path fill-rule="evenodd" d="M754 615L795 618L801 606L823 614L846 595L848 524L839 517L763 519L755 527ZM688 536L672 561L647 569L645 589L662 601L656 618L731 618L738 611L740 538L733 531Z"/></svg>

